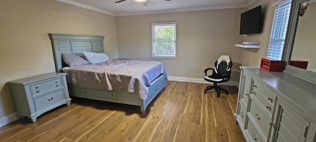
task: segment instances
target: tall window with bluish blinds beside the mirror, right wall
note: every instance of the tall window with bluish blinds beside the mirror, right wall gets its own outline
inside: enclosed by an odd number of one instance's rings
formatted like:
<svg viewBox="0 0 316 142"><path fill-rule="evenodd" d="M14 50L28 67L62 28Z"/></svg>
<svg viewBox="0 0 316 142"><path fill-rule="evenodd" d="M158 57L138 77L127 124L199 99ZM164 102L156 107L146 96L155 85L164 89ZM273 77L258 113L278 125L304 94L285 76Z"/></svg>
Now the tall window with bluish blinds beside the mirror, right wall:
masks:
<svg viewBox="0 0 316 142"><path fill-rule="evenodd" d="M276 6L267 59L281 60L282 58L290 9L291 0L285 0Z"/></svg>

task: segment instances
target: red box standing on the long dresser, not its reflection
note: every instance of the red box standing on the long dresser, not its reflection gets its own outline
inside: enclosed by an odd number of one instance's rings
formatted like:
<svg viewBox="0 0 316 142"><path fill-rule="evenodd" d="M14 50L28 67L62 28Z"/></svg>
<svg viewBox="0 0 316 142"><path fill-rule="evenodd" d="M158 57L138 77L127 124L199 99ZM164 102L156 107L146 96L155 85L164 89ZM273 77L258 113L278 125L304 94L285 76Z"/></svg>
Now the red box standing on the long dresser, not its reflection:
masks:
<svg viewBox="0 0 316 142"><path fill-rule="evenodd" d="M261 58L260 68L267 71L283 71L283 61L273 61Z"/></svg>

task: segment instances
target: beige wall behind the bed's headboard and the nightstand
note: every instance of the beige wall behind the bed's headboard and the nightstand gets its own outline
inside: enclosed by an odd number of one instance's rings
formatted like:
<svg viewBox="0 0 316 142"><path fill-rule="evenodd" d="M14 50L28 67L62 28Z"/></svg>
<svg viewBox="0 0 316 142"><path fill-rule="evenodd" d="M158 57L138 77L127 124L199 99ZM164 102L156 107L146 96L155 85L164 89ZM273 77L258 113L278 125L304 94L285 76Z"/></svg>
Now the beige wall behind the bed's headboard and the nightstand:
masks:
<svg viewBox="0 0 316 142"><path fill-rule="evenodd" d="M54 72L48 33L105 36L117 58L115 17L55 0L1 0L0 118L15 112L10 80Z"/></svg>

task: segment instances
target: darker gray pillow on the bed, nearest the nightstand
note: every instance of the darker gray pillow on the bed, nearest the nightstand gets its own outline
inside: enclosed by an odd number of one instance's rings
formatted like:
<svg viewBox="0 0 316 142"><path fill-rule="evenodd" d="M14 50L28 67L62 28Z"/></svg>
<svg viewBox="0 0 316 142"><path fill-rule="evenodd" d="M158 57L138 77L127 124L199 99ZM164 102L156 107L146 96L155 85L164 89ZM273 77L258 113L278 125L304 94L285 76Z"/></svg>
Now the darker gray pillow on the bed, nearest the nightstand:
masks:
<svg viewBox="0 0 316 142"><path fill-rule="evenodd" d="M64 62L70 67L90 64L87 60L83 59L82 57L78 55L62 53L62 57L63 57Z"/></svg>

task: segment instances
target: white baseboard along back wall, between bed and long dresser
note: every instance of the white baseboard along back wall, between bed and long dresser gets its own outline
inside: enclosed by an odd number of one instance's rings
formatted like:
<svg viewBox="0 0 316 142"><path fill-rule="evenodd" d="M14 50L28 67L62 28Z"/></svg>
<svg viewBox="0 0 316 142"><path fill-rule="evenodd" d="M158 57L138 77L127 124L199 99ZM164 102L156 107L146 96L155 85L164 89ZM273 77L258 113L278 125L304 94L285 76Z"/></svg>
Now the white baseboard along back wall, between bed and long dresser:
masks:
<svg viewBox="0 0 316 142"><path fill-rule="evenodd" d="M195 82L195 83L205 83L205 84L213 84L212 82L208 82L203 78L188 78L188 77L175 77L175 76L168 76L168 80L171 81L183 81L183 82ZM239 82L237 81L228 81L221 83L222 85L230 85L230 86L238 86Z"/></svg>

